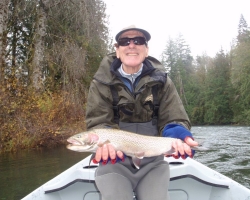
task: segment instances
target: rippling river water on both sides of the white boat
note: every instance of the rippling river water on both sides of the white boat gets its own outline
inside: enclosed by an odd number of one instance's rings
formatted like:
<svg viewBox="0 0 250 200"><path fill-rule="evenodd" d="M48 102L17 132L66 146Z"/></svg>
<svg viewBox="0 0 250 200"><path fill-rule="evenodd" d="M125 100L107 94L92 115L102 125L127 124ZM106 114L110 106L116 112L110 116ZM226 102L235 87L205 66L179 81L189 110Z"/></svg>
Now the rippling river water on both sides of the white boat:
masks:
<svg viewBox="0 0 250 200"><path fill-rule="evenodd" d="M209 150L194 159L250 188L250 127L194 126ZM65 147L0 155L0 200L19 200L88 154Z"/></svg>

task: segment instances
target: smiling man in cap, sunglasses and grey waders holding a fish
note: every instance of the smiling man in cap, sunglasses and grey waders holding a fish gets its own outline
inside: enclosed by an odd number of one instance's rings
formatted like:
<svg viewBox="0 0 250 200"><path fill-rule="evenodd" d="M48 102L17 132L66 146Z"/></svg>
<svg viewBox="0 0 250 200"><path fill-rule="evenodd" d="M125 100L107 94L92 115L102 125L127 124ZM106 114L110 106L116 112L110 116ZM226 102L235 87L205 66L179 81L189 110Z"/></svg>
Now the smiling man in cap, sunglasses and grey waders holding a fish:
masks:
<svg viewBox="0 0 250 200"><path fill-rule="evenodd" d="M192 157L190 122L161 63L148 56L151 35L130 26L116 35L116 54L103 59L91 83L87 128L120 128L138 134L180 138L174 157ZM190 145L190 146L189 146ZM169 166L163 156L144 158L140 169L111 144L96 151L96 185L103 200L167 200ZM123 162L119 162L122 160ZM109 162L110 161L110 162Z"/></svg>

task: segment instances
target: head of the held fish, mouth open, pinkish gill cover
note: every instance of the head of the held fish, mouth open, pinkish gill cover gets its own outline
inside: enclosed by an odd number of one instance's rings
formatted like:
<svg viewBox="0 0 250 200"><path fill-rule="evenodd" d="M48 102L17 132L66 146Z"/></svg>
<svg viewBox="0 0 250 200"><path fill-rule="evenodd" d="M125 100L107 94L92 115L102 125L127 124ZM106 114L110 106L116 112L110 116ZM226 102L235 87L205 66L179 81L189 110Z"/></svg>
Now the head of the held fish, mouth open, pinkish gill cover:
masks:
<svg viewBox="0 0 250 200"><path fill-rule="evenodd" d="M94 133L78 133L67 139L67 148L78 152L95 152L98 148L98 135Z"/></svg>

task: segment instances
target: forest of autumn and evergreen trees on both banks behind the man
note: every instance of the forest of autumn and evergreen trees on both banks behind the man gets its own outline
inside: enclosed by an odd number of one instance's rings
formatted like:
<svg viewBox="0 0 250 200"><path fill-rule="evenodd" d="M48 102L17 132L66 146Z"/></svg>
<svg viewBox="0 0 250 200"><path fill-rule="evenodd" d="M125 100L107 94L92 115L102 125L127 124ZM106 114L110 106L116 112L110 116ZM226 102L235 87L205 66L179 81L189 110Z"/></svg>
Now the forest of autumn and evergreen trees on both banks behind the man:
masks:
<svg viewBox="0 0 250 200"><path fill-rule="evenodd" d="M192 125L250 125L250 29L231 50L193 58L182 35L160 61ZM54 147L85 129L86 96L112 52L102 0L0 2L0 152ZM150 44L149 44L150 45Z"/></svg>

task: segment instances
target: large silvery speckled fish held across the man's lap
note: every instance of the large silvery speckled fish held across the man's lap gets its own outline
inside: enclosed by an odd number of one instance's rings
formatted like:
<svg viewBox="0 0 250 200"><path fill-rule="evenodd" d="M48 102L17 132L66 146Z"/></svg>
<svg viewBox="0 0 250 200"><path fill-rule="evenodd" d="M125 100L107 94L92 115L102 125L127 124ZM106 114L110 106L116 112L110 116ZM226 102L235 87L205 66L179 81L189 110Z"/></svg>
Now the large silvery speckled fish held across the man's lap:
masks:
<svg viewBox="0 0 250 200"><path fill-rule="evenodd" d="M158 155L171 155L175 152L172 143L175 138L146 136L119 129L92 129L70 137L67 148L78 152L96 152L103 144L111 143L115 150L131 156L133 163L139 168L138 159ZM198 149L199 147L192 147Z"/></svg>

